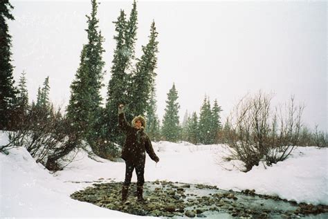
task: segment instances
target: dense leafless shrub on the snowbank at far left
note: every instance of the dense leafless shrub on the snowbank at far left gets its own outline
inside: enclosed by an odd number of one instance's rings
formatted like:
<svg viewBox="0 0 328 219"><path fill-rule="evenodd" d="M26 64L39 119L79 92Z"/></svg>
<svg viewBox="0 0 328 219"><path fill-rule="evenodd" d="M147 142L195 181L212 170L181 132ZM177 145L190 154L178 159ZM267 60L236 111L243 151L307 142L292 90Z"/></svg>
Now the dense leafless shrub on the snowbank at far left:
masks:
<svg viewBox="0 0 328 219"><path fill-rule="evenodd" d="M49 170L57 171L62 169L57 160L79 143L70 127L60 109L55 111L53 106L33 105L17 130L8 133L9 143L6 148L24 146L36 162L42 163Z"/></svg>

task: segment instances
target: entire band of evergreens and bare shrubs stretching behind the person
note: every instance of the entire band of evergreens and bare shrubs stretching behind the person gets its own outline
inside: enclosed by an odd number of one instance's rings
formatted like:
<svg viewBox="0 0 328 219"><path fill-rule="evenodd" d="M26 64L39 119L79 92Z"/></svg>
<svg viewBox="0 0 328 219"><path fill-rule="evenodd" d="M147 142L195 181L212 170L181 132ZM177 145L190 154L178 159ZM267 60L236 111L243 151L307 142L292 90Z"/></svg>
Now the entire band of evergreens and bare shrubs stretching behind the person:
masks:
<svg viewBox="0 0 328 219"><path fill-rule="evenodd" d="M62 169L64 156L86 145L102 158L116 158L124 136L117 124L118 104L125 104L129 121L136 115L147 117L146 132L151 140L228 144L232 150L230 158L242 160L248 170L264 156L268 164L286 159L296 145L327 146L327 136L318 131L318 126L313 132L302 127L302 107L289 107L287 115L293 116L283 118L277 111L272 113L271 97L261 92L253 98L242 99L225 124L221 123L221 106L217 99L211 105L210 97L203 99L199 113L186 112L180 124L179 95L173 84L167 93L165 115L159 120L155 84L158 32L152 21L147 44L141 48L141 57L136 57L136 1L129 16L120 10L117 20L113 21L116 48L106 99L100 95L106 73L102 59L104 37L98 26L98 3L91 0L91 13L86 15L88 41L82 45L65 113L49 100L49 77L39 87L36 102L29 104L26 73L21 74L17 86L12 77L11 36L6 21L14 19L10 13L13 7L8 0L1 1L0 6L0 130L10 131L10 143L0 146L0 151L14 145L25 146L37 162L54 171Z"/></svg>

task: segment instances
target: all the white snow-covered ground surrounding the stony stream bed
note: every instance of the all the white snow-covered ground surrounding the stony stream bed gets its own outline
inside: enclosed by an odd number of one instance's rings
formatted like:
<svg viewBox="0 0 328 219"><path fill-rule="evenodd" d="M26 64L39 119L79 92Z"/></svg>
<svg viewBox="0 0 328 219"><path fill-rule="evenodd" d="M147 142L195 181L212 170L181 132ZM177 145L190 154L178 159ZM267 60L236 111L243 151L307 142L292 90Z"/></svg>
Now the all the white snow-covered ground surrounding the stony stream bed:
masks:
<svg viewBox="0 0 328 219"><path fill-rule="evenodd" d="M0 134L0 144L6 141L6 136ZM161 160L155 164L147 157L147 181L210 184L235 191L255 189L256 193L277 195L296 202L328 204L327 149L299 147L284 162L273 166L260 164L248 173L238 171L233 162L223 160L227 151L222 145L158 142L154 143L154 149ZM124 179L123 162L98 160L101 162L91 160L81 151L64 171L51 174L35 163L24 148L11 149L9 155L0 153L0 218L138 218L69 197L100 178L104 178L103 182ZM135 173L132 180L136 181Z"/></svg>

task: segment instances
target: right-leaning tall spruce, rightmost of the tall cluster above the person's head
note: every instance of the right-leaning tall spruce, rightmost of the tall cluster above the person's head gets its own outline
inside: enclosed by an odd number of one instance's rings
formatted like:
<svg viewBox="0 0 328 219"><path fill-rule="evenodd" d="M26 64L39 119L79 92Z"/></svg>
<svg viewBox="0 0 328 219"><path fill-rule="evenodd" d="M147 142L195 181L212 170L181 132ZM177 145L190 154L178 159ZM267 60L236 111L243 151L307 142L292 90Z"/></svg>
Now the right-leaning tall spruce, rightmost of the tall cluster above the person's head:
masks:
<svg viewBox="0 0 328 219"><path fill-rule="evenodd" d="M155 22L150 28L149 41L143 46L143 55L136 64L136 74L132 77L133 91L131 103L134 106L134 115L145 115L149 95L155 83L155 69L157 66L158 41L156 41Z"/></svg>

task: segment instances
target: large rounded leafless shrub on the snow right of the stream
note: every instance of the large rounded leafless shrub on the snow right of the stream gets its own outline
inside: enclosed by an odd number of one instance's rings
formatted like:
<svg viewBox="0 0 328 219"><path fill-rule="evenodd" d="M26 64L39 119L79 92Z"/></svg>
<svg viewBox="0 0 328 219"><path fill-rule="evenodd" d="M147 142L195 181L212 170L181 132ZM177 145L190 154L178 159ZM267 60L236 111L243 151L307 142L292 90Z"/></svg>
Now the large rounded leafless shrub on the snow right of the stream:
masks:
<svg viewBox="0 0 328 219"><path fill-rule="evenodd" d="M285 160L298 143L304 106L295 106L294 97L285 108L272 111L273 95L246 95L228 117L225 131L230 159L241 160L245 171L264 159L271 165Z"/></svg>

